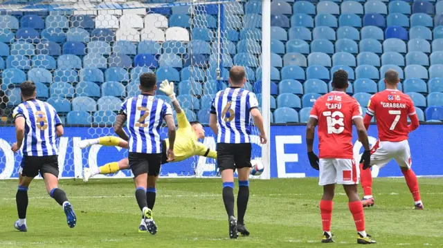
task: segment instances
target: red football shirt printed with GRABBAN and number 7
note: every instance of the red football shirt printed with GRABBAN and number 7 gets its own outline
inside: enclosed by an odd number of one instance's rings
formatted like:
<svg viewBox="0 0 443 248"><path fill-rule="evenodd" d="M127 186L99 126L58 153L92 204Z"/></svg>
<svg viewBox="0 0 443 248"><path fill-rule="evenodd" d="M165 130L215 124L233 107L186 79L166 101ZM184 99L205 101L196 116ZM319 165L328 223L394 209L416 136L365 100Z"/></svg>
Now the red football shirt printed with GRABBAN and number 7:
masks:
<svg viewBox="0 0 443 248"><path fill-rule="evenodd" d="M368 115L375 115L380 141L408 140L408 115L415 115L413 100L399 90L383 90L372 95Z"/></svg>

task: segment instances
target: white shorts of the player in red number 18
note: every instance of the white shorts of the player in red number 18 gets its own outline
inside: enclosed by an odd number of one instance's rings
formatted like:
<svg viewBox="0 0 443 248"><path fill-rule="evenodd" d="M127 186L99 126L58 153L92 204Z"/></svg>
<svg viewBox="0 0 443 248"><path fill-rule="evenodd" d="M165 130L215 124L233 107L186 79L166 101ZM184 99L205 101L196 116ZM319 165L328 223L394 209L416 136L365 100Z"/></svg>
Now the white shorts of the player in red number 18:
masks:
<svg viewBox="0 0 443 248"><path fill-rule="evenodd" d="M359 168L354 159L320 158L320 186L327 184L358 184Z"/></svg>

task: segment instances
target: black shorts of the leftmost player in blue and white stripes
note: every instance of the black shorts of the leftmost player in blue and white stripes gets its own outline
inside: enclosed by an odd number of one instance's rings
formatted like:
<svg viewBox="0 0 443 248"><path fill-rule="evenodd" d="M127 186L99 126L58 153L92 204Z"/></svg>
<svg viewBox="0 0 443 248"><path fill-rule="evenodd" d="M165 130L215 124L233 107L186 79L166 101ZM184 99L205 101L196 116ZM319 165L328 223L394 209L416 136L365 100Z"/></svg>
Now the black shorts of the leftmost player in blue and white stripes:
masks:
<svg viewBox="0 0 443 248"><path fill-rule="evenodd" d="M34 178L39 173L51 173L58 178L58 156L23 156L20 164L22 171L21 175Z"/></svg>

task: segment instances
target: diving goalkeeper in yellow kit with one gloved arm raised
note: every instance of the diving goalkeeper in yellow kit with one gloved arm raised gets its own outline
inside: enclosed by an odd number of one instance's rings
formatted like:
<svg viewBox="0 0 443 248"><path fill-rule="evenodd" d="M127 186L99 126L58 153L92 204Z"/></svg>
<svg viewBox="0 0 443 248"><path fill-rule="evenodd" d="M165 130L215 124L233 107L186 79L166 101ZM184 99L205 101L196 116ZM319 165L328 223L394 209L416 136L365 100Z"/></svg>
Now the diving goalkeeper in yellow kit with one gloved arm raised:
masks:
<svg viewBox="0 0 443 248"><path fill-rule="evenodd" d="M177 112L177 122L179 129L177 130L177 137L174 144L174 154L175 160L173 162L179 162L181 160L186 160L194 155L205 156L208 158L217 158L217 152L208 149L203 143L199 142L198 139L203 139L205 137L205 131L203 126L199 122L188 122L184 111L181 109L179 101L175 98L174 93L174 83L169 83L165 80L160 85L160 90L170 97L172 106L174 106ZM80 149L84 149L87 146L92 146L93 144L101 144L103 146L120 146L122 148L128 148L128 142L115 136L99 137L98 139L82 140L79 143ZM161 164L171 162L168 160L166 151L168 150L169 142L168 139L162 141L162 161ZM120 160L119 162L111 162L97 169L84 168L83 169L83 180L87 182L89 178L97 174L110 174L116 173L117 171L129 169L129 161L127 158Z"/></svg>

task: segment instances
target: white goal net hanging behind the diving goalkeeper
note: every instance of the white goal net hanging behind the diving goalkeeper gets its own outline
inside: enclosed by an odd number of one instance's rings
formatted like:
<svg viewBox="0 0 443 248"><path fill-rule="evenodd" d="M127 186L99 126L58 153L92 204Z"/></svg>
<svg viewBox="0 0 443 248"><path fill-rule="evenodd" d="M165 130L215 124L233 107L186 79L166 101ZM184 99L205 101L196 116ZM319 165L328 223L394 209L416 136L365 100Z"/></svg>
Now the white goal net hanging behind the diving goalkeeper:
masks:
<svg viewBox="0 0 443 248"><path fill-rule="evenodd" d="M10 151L12 110L21 103L25 80L37 84L37 99L52 104L64 123L62 178L80 178L84 167L127 157L125 149L81 150L78 142L115 135L120 104L140 93L138 78L147 72L156 73L158 83L174 82L188 120L205 126L200 141L215 149L207 127L210 102L226 88L233 65L245 67L245 88L261 104L261 12L262 1L0 1L0 178L17 178L21 153ZM156 96L170 102L159 90ZM262 149L253 128L253 158L261 159ZM269 161L264 164L269 168ZM198 156L161 168L165 177L215 175L215 160Z"/></svg>

